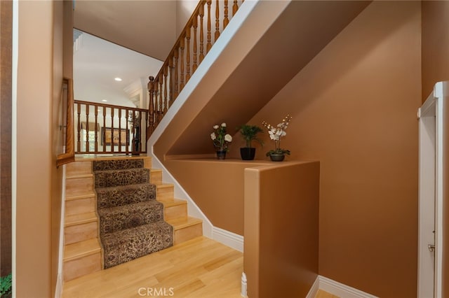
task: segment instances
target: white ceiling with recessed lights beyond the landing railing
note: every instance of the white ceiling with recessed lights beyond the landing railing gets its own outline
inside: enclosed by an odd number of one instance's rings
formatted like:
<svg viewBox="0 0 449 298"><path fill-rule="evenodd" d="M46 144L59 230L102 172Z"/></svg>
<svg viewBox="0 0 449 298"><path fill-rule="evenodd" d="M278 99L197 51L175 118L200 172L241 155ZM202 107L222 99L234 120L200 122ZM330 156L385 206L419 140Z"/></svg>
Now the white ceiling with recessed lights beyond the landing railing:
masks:
<svg viewBox="0 0 449 298"><path fill-rule="evenodd" d="M138 106L130 92L138 88L145 92L148 77L156 76L163 62L76 29L75 38L75 99Z"/></svg>

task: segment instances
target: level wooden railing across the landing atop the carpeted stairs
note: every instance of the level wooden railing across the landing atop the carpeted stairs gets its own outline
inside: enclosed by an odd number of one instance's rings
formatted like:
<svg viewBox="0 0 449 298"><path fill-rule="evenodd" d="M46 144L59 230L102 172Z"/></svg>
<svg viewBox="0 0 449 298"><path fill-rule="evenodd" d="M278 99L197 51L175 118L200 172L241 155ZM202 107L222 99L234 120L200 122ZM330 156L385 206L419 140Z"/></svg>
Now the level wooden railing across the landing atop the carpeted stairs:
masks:
<svg viewBox="0 0 449 298"><path fill-rule="evenodd" d="M76 154L147 152L146 109L75 100L74 110Z"/></svg>

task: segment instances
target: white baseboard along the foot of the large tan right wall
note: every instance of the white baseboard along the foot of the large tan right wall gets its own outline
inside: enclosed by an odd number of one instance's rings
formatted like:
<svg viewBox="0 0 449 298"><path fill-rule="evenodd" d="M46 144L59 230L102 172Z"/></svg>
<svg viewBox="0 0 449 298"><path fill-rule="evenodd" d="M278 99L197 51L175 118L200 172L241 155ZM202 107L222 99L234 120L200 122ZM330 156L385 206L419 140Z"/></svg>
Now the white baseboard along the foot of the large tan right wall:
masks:
<svg viewBox="0 0 449 298"><path fill-rule="evenodd" d="M377 296L368 294L356 288L349 287L349 285L344 285L337 281L333 281L330 278L324 276L316 276L314 284L309 290L306 298L314 298L318 290L323 290L332 295L342 297L342 298L378 298Z"/></svg>

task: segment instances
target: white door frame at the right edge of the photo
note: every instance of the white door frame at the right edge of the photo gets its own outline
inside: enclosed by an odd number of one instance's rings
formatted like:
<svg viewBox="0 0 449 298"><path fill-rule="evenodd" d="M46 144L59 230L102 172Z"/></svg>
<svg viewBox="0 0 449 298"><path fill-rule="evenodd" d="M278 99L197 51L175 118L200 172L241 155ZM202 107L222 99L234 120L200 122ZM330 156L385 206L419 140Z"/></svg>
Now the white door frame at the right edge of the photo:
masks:
<svg viewBox="0 0 449 298"><path fill-rule="evenodd" d="M425 232L428 227L425 220L429 214L434 197L434 297L441 297L442 261L443 261L443 104L448 83L438 82L421 108L420 120L420 178L419 178L419 214L418 214L418 285L417 297L424 297L428 289L426 280L429 269L429 238Z"/></svg>

